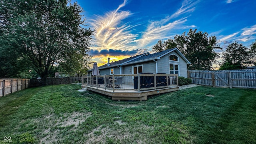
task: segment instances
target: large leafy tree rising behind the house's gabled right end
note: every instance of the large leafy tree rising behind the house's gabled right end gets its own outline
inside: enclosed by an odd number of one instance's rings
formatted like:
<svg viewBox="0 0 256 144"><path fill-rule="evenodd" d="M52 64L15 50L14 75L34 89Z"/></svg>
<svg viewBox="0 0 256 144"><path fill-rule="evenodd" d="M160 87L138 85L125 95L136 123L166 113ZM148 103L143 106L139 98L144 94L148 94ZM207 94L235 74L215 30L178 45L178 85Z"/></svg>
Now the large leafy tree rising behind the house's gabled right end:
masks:
<svg viewBox="0 0 256 144"><path fill-rule="evenodd" d="M210 70L212 64L216 62L216 58L219 57L216 50L222 48L218 45L216 36L208 37L207 32L196 31L196 29L190 29L187 35L186 32L183 32L182 35L176 35L174 39L169 39L164 44L162 44L162 41L158 41L158 44L152 50L159 52L177 47L191 62L188 69Z"/></svg>

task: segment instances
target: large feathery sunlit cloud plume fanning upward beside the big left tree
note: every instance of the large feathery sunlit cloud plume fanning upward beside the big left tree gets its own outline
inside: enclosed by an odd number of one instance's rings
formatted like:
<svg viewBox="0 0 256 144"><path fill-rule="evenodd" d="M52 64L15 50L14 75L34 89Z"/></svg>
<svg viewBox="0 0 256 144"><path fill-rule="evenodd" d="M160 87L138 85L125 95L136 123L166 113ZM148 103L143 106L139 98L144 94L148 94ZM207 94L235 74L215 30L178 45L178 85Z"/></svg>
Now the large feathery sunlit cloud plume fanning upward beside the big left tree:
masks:
<svg viewBox="0 0 256 144"><path fill-rule="evenodd" d="M131 30L135 26L129 23L123 23L122 20L132 16L130 11L119 11L125 6L120 4L116 10L107 12L104 16L96 16L92 20L92 26L96 29L94 47L97 50L102 49L128 49L132 50L134 46L131 42L136 39L137 34L132 34Z"/></svg>

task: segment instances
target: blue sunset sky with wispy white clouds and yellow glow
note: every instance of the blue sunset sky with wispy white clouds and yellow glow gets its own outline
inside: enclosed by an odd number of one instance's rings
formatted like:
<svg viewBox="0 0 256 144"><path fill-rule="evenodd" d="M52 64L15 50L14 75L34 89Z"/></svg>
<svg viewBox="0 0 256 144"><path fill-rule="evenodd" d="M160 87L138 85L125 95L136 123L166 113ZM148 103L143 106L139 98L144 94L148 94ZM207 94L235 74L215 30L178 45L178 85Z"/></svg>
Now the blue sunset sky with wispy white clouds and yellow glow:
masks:
<svg viewBox="0 0 256 144"><path fill-rule="evenodd" d="M152 52L158 40L190 29L216 36L222 48L256 40L256 0L72 0L93 28L92 60L98 65Z"/></svg>

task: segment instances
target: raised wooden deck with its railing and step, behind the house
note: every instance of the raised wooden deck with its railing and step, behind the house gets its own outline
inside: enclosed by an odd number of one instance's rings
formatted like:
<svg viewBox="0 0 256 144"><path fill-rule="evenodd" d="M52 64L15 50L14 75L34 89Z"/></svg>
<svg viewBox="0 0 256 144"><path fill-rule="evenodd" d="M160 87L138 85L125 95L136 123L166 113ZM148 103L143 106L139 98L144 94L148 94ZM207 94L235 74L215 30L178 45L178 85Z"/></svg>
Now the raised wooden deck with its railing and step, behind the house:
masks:
<svg viewBox="0 0 256 144"><path fill-rule="evenodd" d="M140 80L140 77L142 78L143 76L150 79L151 83L143 83ZM109 83L107 82L109 77L117 80L115 83ZM119 78L122 79L119 80L120 83L118 83ZM134 78L137 81L134 81ZM98 79L102 80L98 81ZM150 95L179 90L178 76L174 74L88 76L86 80L82 78L82 87L86 87L87 90L93 92L111 96L112 100L147 100L147 96Z"/></svg>

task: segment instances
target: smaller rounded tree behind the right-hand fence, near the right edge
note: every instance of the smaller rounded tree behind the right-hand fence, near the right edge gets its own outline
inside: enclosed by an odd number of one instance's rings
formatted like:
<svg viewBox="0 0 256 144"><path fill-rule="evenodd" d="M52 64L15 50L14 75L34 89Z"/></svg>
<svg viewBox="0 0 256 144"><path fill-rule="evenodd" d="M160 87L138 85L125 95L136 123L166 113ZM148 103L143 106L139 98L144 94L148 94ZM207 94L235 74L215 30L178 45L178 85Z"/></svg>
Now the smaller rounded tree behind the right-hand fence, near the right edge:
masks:
<svg viewBox="0 0 256 144"><path fill-rule="evenodd" d="M246 48L238 42L233 42L228 44L227 49L223 52L223 61L234 65L234 68L245 68L247 64L250 63L250 52L249 48Z"/></svg>

